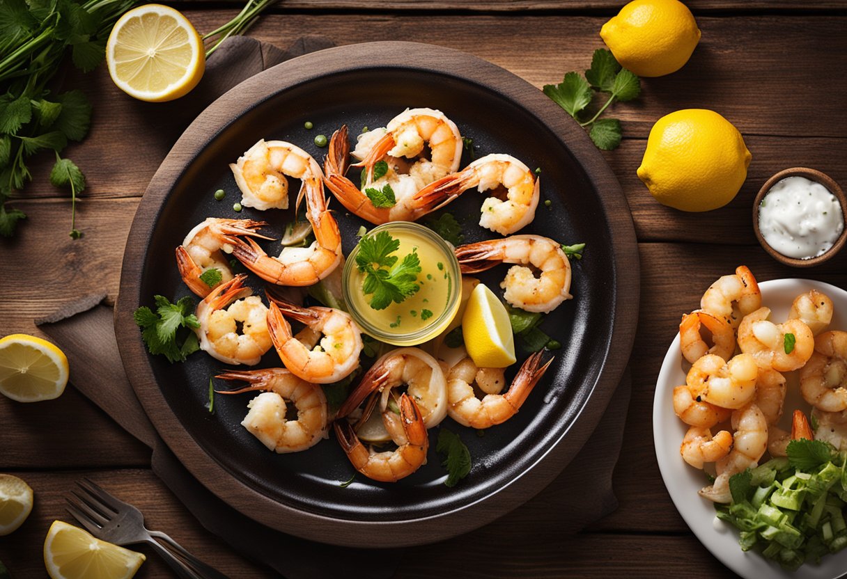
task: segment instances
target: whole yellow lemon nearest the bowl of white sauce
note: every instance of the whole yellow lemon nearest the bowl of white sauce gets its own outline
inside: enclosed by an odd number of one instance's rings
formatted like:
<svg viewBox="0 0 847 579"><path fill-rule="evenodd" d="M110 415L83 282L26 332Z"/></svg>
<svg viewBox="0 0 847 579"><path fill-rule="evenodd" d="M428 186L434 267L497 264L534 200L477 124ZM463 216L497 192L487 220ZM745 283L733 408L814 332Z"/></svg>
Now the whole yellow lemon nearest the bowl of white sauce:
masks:
<svg viewBox="0 0 847 579"><path fill-rule="evenodd" d="M686 108L650 129L638 176L663 205L711 211L738 194L751 158L741 133L727 119Z"/></svg>

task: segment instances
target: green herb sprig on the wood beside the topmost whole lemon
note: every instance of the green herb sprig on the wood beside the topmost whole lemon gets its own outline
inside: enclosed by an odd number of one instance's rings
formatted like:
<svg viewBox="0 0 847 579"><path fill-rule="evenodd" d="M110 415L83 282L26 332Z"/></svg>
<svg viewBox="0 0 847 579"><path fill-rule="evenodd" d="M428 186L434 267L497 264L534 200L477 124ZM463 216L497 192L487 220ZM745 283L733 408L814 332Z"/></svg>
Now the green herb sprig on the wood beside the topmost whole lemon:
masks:
<svg viewBox="0 0 847 579"><path fill-rule="evenodd" d="M591 141L598 149L612 151L621 144L621 122L617 119L601 119L600 115L612 102L631 101L639 96L641 84L638 76L617 63L612 52L598 48L584 78L579 73L569 72L558 85L545 85L543 90L545 95L576 119L579 126L589 130ZM609 97L594 116L580 120L580 113L591 104L595 92L606 93Z"/></svg>

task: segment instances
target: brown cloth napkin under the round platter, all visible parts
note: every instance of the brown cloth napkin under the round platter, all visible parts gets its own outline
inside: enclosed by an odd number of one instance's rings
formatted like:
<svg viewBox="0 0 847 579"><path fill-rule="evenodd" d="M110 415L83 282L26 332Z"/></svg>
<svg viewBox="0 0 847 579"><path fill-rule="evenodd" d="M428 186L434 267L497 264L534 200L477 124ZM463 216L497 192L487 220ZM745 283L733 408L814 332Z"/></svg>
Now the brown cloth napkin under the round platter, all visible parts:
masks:
<svg viewBox="0 0 847 579"><path fill-rule="evenodd" d="M242 80L289 58L332 46L334 43L324 36L303 36L283 51L252 38L232 37L209 59L206 73L194 91L174 102L160 103L155 113L145 114L151 123L147 134L164 157L203 108ZM102 303L105 297L87 295L52 316L36 320L36 325L68 356L70 382L76 389L152 449L152 470L203 527L249 559L268 565L290 579L347 576L351 569L357 570L357 576L394 575L402 549L379 549L379 556L375 556L373 549L337 547L285 535L224 504L192 477L159 438L126 378L114 334L113 309ZM623 441L630 391L627 372L597 427L597 434L565 471L532 499L531 502L541 501L545 505L543 512L556 518L558 529L579 532L617 509L612 471ZM584 493L588 488L592 492ZM563 493L565 489L581 492ZM504 520L519 518L528 511L518 509L504 516ZM319 567L314 566L315 561L320 562Z"/></svg>

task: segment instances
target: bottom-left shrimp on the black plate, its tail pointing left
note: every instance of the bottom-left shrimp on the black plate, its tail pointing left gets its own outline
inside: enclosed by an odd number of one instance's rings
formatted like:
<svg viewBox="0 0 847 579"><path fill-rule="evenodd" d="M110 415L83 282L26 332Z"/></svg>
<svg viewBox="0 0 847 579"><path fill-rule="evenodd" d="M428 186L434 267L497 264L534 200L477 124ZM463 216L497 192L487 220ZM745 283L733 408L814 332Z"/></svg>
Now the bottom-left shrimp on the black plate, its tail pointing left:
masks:
<svg viewBox="0 0 847 579"><path fill-rule="evenodd" d="M226 372L215 378L243 380L250 386L226 390L219 394L241 394L263 390L250 401L247 416L241 421L253 436L269 450L277 453L299 452L312 448L324 438L327 426L327 403L324 389L297 378L284 368L268 368L250 372ZM288 420L285 400L296 406L297 419Z"/></svg>

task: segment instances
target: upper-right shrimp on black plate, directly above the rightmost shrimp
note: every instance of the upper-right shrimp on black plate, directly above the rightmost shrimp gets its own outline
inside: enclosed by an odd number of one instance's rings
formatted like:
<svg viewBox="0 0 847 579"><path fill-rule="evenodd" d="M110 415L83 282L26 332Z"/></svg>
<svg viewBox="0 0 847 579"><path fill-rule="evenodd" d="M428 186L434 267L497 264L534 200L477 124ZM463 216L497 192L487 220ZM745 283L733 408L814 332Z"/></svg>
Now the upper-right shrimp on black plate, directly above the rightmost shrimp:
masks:
<svg viewBox="0 0 847 579"><path fill-rule="evenodd" d="M480 157L458 173L447 175L414 196L414 207L435 211L476 187L480 193L505 188L505 199L490 196L483 201L479 225L502 235L511 235L535 218L540 179L533 171L510 155L492 154Z"/></svg>

